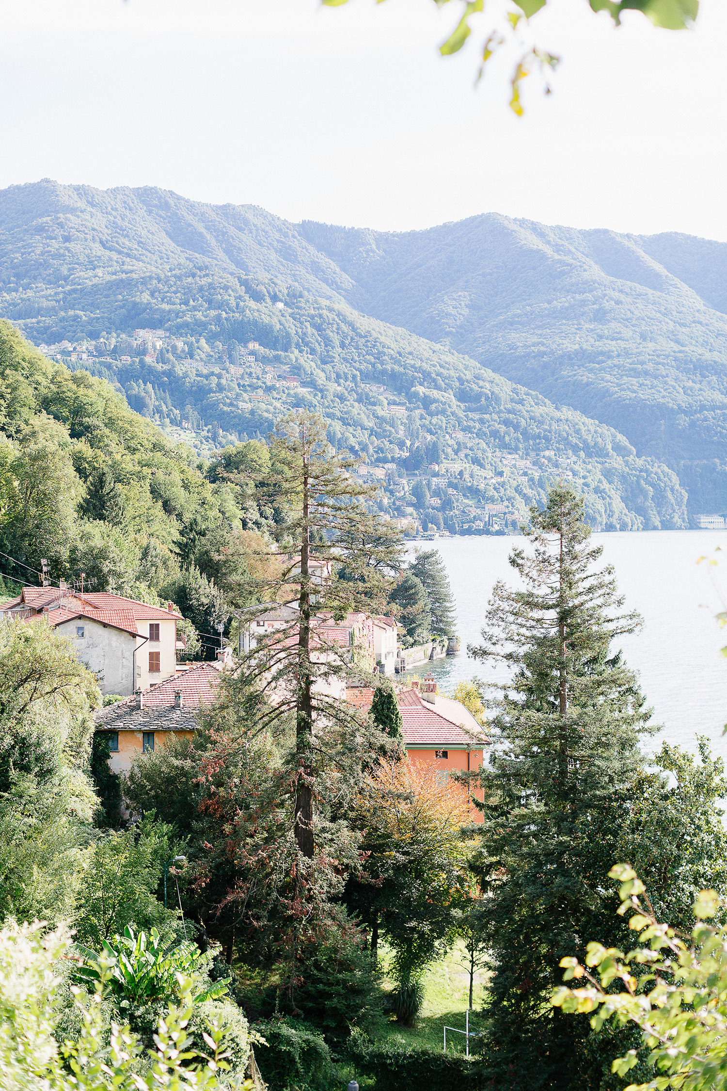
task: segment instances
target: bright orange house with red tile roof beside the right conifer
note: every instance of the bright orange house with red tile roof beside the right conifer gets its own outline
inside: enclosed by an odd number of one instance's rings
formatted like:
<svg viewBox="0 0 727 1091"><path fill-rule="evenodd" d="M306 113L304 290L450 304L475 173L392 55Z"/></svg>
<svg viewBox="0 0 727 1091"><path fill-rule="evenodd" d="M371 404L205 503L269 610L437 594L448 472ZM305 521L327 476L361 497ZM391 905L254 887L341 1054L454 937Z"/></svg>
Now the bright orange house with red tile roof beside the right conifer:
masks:
<svg viewBox="0 0 727 1091"><path fill-rule="evenodd" d="M424 699L416 687L397 694L408 760L431 766L443 781L452 772L476 772L484 764L485 747L489 745L485 731L459 700L439 695L437 698L438 704ZM354 708L367 712L374 690L352 686L346 691L346 699ZM480 788L473 787L472 794L482 799ZM482 822L482 812L474 804L470 817L472 822Z"/></svg>

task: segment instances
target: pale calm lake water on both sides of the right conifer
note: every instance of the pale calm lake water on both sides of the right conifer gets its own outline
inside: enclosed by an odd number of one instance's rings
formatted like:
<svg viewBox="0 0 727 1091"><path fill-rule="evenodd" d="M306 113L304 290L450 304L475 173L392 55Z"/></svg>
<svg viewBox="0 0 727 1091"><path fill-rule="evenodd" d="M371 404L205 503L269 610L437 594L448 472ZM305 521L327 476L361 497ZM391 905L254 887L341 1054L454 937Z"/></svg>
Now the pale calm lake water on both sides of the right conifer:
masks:
<svg viewBox="0 0 727 1091"><path fill-rule="evenodd" d="M658 748L666 739L693 751L695 735L704 734L713 753L727 759L727 738L722 735L727 721L727 659L719 654L727 645L727 630L720 630L714 618L725 609L723 597L727 600L727 531L597 533L592 541L603 546L604 563L614 565L625 607L644 619L641 633L622 637L619 644L654 706L654 722L663 724L647 745ZM517 582L508 563L516 542L525 544L523 538L468 537L410 548L411 554L415 548L438 549L449 572L462 650L429 664L447 693L462 679L498 678L490 667L470 659L467 646L478 643L495 582ZM715 554L717 547L725 553ZM703 555L719 560L718 566L698 565ZM416 672L422 675L425 669L422 664Z"/></svg>

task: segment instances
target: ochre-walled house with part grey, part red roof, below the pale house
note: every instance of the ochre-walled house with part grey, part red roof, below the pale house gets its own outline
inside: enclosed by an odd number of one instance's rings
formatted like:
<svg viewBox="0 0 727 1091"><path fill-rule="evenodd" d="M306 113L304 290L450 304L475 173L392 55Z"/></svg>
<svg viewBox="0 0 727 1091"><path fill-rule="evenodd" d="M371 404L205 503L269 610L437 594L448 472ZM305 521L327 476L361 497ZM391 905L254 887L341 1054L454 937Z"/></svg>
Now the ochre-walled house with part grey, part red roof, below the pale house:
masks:
<svg viewBox="0 0 727 1091"><path fill-rule="evenodd" d="M165 746L170 739L191 739L199 716L215 700L221 671L201 663L96 714L96 731L109 741L111 772L128 772L134 755Z"/></svg>

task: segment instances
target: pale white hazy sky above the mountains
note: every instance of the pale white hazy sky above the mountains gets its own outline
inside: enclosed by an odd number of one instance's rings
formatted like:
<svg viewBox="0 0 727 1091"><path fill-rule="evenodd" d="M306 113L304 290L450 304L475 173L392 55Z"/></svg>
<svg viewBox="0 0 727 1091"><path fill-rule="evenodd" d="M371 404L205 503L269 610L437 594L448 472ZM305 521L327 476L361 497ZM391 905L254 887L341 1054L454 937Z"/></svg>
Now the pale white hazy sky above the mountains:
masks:
<svg viewBox="0 0 727 1091"><path fill-rule="evenodd" d="M724 0L680 33L550 0L534 29L564 61L549 97L531 77L521 120L511 58L474 91L474 46L438 56L450 8L0 0L0 187L161 185L390 230L500 212L727 240Z"/></svg>

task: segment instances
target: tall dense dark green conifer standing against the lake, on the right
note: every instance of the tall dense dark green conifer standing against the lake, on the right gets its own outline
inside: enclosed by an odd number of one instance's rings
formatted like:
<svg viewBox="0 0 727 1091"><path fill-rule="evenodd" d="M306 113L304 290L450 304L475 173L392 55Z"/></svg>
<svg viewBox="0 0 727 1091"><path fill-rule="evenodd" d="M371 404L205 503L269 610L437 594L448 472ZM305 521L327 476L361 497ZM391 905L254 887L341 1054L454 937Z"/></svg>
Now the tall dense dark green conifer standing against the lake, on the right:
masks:
<svg viewBox="0 0 727 1091"><path fill-rule="evenodd" d="M603 934L610 891L593 867L594 847L608 855L611 804L628 801L650 717L633 673L610 652L640 619L619 612L613 570L593 570L602 549L589 546L582 517L583 501L562 484L544 511L531 509L534 550L510 558L522 589L495 586L484 643L470 649L512 670L493 700L477 864L494 969L486 1054L504 1091L586 1086L571 1082L569 1064L587 1019L567 1019L548 1000L560 959Z"/></svg>

